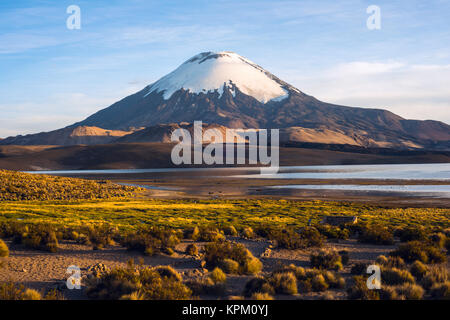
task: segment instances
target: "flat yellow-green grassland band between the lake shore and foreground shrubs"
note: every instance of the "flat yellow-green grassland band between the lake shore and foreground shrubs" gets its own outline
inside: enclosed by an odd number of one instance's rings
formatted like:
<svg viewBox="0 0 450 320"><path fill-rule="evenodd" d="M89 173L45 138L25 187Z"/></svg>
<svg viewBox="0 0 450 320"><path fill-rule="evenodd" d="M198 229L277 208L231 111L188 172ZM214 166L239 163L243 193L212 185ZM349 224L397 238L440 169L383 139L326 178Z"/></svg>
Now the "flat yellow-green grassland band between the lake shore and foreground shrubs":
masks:
<svg viewBox="0 0 450 320"><path fill-rule="evenodd" d="M76 227L108 223L122 230L143 224L185 228L198 225L238 228L317 224L325 215L357 216L389 228L450 227L450 209L383 208L355 203L287 200L109 199L70 201L1 201L0 221L49 223Z"/></svg>

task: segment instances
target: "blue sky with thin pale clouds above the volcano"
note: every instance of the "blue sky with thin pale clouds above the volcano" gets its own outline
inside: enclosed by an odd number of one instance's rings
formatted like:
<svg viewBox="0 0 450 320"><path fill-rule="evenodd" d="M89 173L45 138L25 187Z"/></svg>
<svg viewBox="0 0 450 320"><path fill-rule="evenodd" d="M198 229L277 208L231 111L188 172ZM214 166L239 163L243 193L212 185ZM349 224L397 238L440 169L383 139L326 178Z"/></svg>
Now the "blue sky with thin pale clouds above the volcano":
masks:
<svg viewBox="0 0 450 320"><path fill-rule="evenodd" d="M1 0L0 137L80 121L204 51L325 102L450 124L450 0Z"/></svg>

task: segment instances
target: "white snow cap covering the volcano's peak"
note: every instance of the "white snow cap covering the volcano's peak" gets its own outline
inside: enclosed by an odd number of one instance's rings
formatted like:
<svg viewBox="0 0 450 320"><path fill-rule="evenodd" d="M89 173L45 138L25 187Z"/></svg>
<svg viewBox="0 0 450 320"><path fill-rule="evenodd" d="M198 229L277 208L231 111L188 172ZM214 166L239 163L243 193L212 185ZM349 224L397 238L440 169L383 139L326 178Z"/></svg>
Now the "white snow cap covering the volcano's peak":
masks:
<svg viewBox="0 0 450 320"><path fill-rule="evenodd" d="M153 83L145 96L163 91L167 100L182 88L197 94L217 90L221 96L225 86L233 91L234 85L261 103L287 98L289 92L272 77L257 64L234 52L203 52Z"/></svg>

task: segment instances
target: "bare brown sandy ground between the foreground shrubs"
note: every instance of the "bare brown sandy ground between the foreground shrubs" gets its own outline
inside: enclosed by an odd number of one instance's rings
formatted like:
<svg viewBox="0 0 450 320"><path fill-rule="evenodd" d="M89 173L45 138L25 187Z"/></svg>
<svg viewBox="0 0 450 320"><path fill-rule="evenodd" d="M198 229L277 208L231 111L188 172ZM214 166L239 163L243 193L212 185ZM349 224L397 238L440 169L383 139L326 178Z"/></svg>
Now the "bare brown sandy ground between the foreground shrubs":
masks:
<svg viewBox="0 0 450 320"><path fill-rule="evenodd" d="M264 239L245 240L240 238L230 238L232 241L243 243L254 256L259 257L264 264L263 273L273 271L280 265L295 264L297 266L309 267L309 255L312 250L285 250L272 249L266 257L261 257L271 243ZM126 266L127 261L134 259L136 263L143 261L145 266L171 265L181 272L185 278L199 276L206 270L201 267L201 260L184 254L186 246L191 241L183 241L175 250L172 256L158 255L147 257L137 252L129 252L119 246L110 246L104 250L92 250L92 247L79 245L71 241L63 241L59 245L57 253L47 253L36 250L25 249L20 245L10 245L10 257L4 259L3 267L0 269L0 282L13 281L21 283L29 288L38 290L48 290L52 288L62 288L67 299L86 299L82 290L68 290L65 281L69 274L66 270L71 265L76 265L81 269L81 275L87 275L87 269L98 263L103 263L109 268ZM196 243L200 249L203 243ZM338 250L348 250L350 253L350 264L342 271L342 275L349 279L351 264L355 262L370 262L381 254L388 254L393 250L393 246L376 246L360 244L356 240L341 240L339 243L327 243L327 247L334 247ZM226 296L239 296L242 294L245 283L249 276L228 276ZM330 293L330 291L329 291ZM345 291L332 291L335 298L345 298ZM310 293L297 297L279 296L281 299L318 299L323 293ZM214 298L214 297L206 297Z"/></svg>

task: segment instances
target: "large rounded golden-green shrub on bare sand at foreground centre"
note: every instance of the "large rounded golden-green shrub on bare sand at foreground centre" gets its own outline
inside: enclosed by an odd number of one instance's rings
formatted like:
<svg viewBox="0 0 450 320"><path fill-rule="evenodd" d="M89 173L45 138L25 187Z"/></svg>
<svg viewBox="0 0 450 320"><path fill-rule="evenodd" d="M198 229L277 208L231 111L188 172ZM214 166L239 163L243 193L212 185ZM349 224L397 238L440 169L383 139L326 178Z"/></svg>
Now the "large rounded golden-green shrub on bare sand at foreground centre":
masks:
<svg viewBox="0 0 450 320"><path fill-rule="evenodd" d="M261 261L242 244L225 241L209 243L205 246L205 261L209 269L224 267L225 259L236 261L239 264L238 273L240 274L256 274L262 269Z"/></svg>

